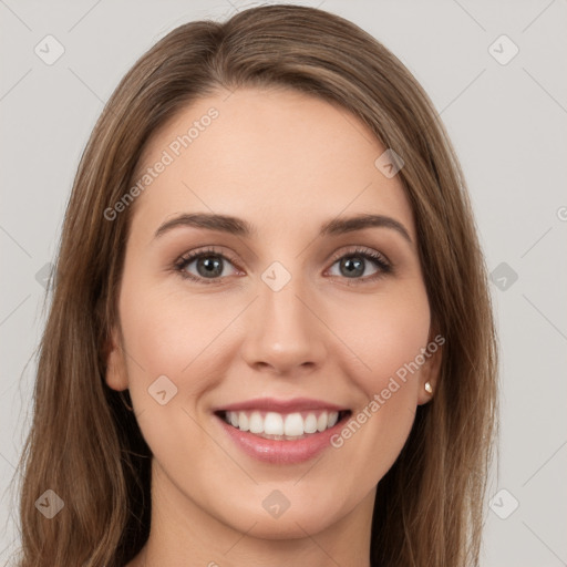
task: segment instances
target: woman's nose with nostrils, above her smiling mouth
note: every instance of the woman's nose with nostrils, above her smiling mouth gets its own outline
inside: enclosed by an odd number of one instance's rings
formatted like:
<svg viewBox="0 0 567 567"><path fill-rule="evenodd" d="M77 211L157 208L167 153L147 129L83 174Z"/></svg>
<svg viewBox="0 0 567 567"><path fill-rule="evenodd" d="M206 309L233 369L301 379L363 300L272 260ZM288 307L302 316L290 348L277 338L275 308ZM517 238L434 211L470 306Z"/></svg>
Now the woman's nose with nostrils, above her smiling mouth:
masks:
<svg viewBox="0 0 567 567"><path fill-rule="evenodd" d="M292 277L275 291L259 281L259 297L246 312L243 357L257 371L293 377L313 372L328 357L332 337L301 278Z"/></svg>

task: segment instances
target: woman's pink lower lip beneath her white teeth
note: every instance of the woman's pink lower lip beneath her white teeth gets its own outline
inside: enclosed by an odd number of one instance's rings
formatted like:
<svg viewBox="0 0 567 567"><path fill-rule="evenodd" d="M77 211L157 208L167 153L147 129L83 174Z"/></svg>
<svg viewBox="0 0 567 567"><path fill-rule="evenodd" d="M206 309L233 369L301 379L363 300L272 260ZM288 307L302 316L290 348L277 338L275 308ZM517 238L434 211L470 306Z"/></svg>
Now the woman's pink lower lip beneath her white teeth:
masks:
<svg viewBox="0 0 567 567"><path fill-rule="evenodd" d="M296 464L313 458L324 449L331 446L332 435L343 427L346 421L346 417L343 417L332 427L297 441L277 441L240 431L238 427L229 425L223 417L218 415L215 415L215 417L220 422L229 437L247 455L274 464Z"/></svg>

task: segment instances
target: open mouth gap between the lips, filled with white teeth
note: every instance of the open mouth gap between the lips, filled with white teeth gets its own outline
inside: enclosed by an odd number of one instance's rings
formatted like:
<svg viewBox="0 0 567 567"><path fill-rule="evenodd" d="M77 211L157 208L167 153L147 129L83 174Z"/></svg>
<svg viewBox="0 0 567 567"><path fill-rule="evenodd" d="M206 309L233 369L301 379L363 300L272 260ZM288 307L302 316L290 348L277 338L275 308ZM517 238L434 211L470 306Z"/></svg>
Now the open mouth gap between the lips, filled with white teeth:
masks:
<svg viewBox="0 0 567 567"><path fill-rule="evenodd" d="M350 410L308 410L280 413L261 410L218 411L215 415L233 427L261 439L298 441L322 433L349 419Z"/></svg>

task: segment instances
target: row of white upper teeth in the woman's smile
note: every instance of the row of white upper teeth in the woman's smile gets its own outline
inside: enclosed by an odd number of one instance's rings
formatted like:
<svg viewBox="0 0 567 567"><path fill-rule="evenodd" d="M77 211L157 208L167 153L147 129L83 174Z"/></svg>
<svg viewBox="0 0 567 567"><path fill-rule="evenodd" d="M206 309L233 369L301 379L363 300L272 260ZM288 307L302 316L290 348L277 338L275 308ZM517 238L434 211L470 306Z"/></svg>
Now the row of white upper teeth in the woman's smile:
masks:
<svg viewBox="0 0 567 567"><path fill-rule="evenodd" d="M322 432L336 425L339 420L339 412L323 411L319 415L310 412L303 415L299 412L286 415L267 412L262 416L259 411L240 411L226 412L225 421L240 431L249 431L260 436L289 439Z"/></svg>

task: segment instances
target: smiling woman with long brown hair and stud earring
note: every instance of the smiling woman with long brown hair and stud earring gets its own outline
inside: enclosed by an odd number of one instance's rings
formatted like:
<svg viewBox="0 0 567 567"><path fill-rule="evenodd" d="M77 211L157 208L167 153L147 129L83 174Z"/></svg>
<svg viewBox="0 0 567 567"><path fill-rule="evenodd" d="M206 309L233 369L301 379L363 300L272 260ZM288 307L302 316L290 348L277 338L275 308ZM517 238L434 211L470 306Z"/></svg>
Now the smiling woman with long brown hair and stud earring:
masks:
<svg viewBox="0 0 567 567"><path fill-rule="evenodd" d="M18 565L478 565L496 368L410 72L312 8L181 25L79 166Z"/></svg>

